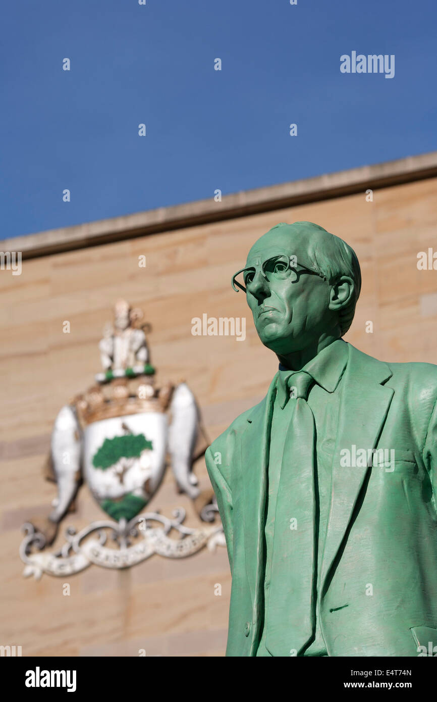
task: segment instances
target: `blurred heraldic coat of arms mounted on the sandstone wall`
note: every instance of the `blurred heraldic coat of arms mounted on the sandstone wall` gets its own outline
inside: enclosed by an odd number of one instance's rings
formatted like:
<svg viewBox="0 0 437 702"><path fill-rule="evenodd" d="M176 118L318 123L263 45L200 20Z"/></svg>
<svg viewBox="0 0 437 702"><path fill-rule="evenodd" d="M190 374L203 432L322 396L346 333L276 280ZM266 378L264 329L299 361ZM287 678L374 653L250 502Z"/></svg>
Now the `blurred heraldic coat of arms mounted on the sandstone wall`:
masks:
<svg viewBox="0 0 437 702"><path fill-rule="evenodd" d="M55 419L46 477L57 483L58 496L46 519L23 525L25 576L62 576L92 563L126 568L154 553L179 558L204 546L214 550L225 545L213 491L201 495L192 471L209 443L196 399L184 382L155 387L145 331L149 325L141 319L141 310L124 300L116 303L114 324L100 341L102 372ZM171 518L143 512L168 463L177 490L196 505L204 522L199 528L183 524L183 508ZM79 532L69 527L62 547L49 552L83 482L106 518ZM219 524L211 524L215 519Z"/></svg>

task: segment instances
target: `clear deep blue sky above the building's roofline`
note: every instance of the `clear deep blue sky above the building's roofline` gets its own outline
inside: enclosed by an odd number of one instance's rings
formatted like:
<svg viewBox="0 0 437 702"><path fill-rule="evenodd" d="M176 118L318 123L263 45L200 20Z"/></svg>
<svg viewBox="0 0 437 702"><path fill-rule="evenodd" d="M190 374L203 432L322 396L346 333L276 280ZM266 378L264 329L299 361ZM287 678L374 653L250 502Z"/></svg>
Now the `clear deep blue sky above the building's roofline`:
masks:
<svg viewBox="0 0 437 702"><path fill-rule="evenodd" d="M8 2L0 238L435 150L436 24L435 0ZM351 51L394 78L340 73Z"/></svg>

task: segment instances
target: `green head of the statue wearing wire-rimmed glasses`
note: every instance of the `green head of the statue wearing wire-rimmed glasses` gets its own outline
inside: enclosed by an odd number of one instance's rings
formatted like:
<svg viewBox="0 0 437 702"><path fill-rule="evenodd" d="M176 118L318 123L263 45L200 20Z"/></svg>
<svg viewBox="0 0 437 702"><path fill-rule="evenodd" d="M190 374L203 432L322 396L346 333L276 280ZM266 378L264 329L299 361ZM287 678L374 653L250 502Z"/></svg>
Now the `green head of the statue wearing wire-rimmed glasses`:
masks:
<svg viewBox="0 0 437 702"><path fill-rule="evenodd" d="M347 332L361 271L353 249L323 227L281 223L255 241L232 285L246 291L262 343L284 357Z"/></svg>

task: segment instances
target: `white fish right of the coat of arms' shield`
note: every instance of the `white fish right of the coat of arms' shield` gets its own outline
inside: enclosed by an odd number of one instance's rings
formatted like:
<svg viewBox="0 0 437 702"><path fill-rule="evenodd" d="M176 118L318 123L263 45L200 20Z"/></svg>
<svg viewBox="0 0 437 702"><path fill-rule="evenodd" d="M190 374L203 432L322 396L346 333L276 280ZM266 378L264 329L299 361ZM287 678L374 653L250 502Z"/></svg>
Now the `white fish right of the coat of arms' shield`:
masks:
<svg viewBox="0 0 437 702"><path fill-rule="evenodd" d="M168 429L168 451L177 485L192 500L199 496L198 480L192 472L194 446L199 431L199 410L186 383L177 385L170 402L172 421Z"/></svg>

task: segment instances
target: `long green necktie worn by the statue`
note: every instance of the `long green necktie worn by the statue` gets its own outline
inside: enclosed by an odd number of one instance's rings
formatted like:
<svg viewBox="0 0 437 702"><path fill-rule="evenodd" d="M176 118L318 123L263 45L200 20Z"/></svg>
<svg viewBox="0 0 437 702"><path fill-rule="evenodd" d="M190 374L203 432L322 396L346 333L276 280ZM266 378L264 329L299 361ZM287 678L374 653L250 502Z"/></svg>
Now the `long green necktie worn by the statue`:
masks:
<svg viewBox="0 0 437 702"><path fill-rule="evenodd" d="M279 398L290 417L276 498L266 647L272 656L296 656L316 623L314 565L316 513L314 414L307 403L309 373L290 373ZM283 391L283 388L281 388Z"/></svg>

